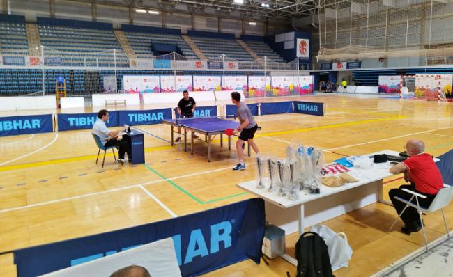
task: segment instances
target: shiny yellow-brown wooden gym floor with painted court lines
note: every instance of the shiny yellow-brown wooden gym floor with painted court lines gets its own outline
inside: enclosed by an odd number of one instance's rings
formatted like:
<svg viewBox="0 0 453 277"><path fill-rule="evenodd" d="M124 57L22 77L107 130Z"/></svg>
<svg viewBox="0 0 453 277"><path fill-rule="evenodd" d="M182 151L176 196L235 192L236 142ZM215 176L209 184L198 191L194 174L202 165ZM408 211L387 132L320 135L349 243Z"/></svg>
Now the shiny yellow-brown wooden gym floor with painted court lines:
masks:
<svg viewBox="0 0 453 277"><path fill-rule="evenodd" d="M325 102L325 116L257 116L263 129L257 133L256 143L263 155L283 157L293 141L322 148L327 162L384 149L402 151L413 138L422 139L427 152L436 156L453 146L453 104L364 95L248 102L284 100ZM208 104L214 103L199 103ZM170 146L167 125L139 128L149 133L145 134L146 164L121 167L110 154L103 171L95 164L98 150L90 130L1 137L0 253L160 221L252 197L235 186L254 179L252 159L245 159L246 171L232 172L236 150L216 143L213 161L208 163L204 143L197 143L191 156L178 145ZM401 175L385 180L385 197L402 182ZM446 215L453 230L452 205ZM349 267L335 271L335 275L369 276L422 247L422 233L401 234L401 222L387 234L395 216L392 207L375 203L324 222L337 232L345 232L353 248ZM429 241L445 233L440 213L425 216L424 222ZM297 237L287 236L291 253ZM286 276L286 271L294 276L295 267L275 258L268 266L247 260L205 276ZM11 253L0 255L0 276L16 276Z"/></svg>

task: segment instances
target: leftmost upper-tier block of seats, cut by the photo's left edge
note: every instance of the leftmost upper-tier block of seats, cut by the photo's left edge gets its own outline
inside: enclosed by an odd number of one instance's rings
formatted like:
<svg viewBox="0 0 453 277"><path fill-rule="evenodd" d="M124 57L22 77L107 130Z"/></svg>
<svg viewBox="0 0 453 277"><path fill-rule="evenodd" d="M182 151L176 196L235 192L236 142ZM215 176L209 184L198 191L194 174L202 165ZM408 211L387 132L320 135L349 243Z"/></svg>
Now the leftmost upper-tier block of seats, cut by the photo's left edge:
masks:
<svg viewBox="0 0 453 277"><path fill-rule="evenodd" d="M25 17L0 14L0 51L2 54L28 55Z"/></svg>

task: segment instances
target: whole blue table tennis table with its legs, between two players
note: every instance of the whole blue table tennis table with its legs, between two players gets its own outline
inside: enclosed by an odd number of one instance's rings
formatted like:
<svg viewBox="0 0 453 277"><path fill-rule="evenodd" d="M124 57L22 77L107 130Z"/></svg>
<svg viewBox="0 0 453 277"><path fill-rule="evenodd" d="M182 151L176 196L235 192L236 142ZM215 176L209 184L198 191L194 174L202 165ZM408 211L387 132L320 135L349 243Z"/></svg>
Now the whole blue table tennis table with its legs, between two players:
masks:
<svg viewBox="0 0 453 277"><path fill-rule="evenodd" d="M170 125L171 128L171 145L174 145L174 133L178 133L175 127L184 129L184 151L187 151L187 132L190 131L190 153L194 154L194 134L202 134L205 139L197 139L208 143L208 161L211 158L211 147L213 136L220 134L220 147L223 147L223 135L227 129L236 129L239 122L224 118L206 117L206 118L177 118L164 119L163 124ZM258 127L261 129L261 127ZM231 136L228 136L228 149L231 150ZM250 145L247 144L248 155L250 156Z"/></svg>

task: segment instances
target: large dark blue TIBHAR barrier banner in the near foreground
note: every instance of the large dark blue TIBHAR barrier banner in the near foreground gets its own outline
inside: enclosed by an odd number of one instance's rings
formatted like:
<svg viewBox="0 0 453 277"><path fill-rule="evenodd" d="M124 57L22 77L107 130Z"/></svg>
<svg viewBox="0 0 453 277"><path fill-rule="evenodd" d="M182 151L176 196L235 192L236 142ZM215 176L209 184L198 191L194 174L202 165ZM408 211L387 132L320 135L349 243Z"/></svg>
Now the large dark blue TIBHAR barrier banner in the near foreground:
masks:
<svg viewBox="0 0 453 277"><path fill-rule="evenodd" d="M254 198L165 221L16 250L14 262L18 277L40 276L171 237L182 276L197 276L247 258L259 263L265 223L264 200Z"/></svg>

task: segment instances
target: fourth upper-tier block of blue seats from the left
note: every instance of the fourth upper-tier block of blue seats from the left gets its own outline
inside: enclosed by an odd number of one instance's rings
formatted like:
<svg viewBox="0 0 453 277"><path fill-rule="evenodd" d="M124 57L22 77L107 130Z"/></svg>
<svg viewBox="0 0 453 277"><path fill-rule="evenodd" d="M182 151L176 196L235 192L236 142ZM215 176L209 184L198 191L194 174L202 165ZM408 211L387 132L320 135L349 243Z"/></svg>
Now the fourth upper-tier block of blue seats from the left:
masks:
<svg viewBox="0 0 453 277"><path fill-rule="evenodd" d="M219 58L225 54L228 58L234 58L238 61L253 61L254 58L248 54L242 46L234 39L229 38L207 38L192 36L190 38L199 47L201 52L208 59Z"/></svg>

